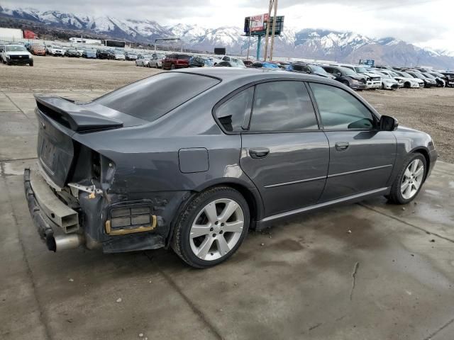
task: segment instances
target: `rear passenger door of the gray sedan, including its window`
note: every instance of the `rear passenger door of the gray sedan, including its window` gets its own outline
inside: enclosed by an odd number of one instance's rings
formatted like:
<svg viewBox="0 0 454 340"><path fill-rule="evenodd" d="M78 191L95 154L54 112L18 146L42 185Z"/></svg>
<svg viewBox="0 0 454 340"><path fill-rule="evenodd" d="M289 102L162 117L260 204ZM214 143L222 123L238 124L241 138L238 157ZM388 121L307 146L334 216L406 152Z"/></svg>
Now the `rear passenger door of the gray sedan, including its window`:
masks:
<svg viewBox="0 0 454 340"><path fill-rule="evenodd" d="M319 200L329 146L304 82L256 85L250 122L241 135L240 166L260 191L266 216Z"/></svg>

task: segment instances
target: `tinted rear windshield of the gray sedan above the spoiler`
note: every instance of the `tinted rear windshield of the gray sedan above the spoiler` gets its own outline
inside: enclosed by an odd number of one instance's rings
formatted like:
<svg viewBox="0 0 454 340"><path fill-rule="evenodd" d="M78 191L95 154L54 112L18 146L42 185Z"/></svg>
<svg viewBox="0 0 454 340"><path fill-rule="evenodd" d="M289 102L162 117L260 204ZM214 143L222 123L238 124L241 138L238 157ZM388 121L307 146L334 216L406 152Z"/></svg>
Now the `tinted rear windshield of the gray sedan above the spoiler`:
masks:
<svg viewBox="0 0 454 340"><path fill-rule="evenodd" d="M197 74L160 73L106 94L95 103L153 122L219 82Z"/></svg>

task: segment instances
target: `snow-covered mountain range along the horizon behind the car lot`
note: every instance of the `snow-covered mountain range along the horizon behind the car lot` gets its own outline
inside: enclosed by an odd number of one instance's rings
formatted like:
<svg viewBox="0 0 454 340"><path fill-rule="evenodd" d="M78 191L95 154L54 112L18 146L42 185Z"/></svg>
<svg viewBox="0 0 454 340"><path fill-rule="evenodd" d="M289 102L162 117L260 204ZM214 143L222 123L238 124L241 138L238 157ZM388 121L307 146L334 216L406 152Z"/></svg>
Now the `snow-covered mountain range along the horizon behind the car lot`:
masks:
<svg viewBox="0 0 454 340"><path fill-rule="evenodd" d="M89 16L61 11L38 11L33 8L2 8L0 16L28 21L46 28L74 31L74 34L94 34L133 42L153 43L155 38L181 38L184 47L192 50L213 51L226 47L228 53L239 54L248 48L243 29L235 26L205 28L179 23L161 26L156 21ZM251 38L250 54L255 54L257 38ZM432 65L454 67L454 52L416 47L394 38L372 39L352 32L297 29L284 27L275 40L275 56L299 57L339 62L358 62L373 59L380 63L413 66Z"/></svg>

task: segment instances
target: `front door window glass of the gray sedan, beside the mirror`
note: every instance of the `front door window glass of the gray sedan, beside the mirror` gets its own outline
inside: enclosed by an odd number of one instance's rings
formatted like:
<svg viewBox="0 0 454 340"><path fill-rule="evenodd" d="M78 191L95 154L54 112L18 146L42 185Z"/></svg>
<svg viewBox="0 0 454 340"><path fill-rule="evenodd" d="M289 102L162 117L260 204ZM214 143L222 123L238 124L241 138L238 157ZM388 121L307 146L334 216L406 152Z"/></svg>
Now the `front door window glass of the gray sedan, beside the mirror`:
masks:
<svg viewBox="0 0 454 340"><path fill-rule="evenodd" d="M372 113L357 98L335 86L311 83L323 128L333 130L374 128Z"/></svg>

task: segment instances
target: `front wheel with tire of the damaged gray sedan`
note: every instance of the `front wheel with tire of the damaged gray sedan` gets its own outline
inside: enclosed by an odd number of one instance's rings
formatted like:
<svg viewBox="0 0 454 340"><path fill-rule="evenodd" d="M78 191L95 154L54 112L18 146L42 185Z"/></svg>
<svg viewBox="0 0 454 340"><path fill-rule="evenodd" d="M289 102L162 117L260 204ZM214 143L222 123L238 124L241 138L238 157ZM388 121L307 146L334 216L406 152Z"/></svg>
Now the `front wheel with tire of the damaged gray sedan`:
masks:
<svg viewBox="0 0 454 340"><path fill-rule="evenodd" d="M416 164L416 168L414 168L414 164ZM421 166L423 166L422 171ZM391 192L388 196L389 202L394 204L406 204L414 200L423 186L426 174L426 158L419 153L409 154L404 161L402 169L392 183ZM404 190L405 183L406 189Z"/></svg>

